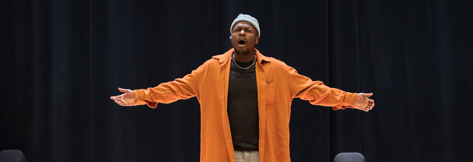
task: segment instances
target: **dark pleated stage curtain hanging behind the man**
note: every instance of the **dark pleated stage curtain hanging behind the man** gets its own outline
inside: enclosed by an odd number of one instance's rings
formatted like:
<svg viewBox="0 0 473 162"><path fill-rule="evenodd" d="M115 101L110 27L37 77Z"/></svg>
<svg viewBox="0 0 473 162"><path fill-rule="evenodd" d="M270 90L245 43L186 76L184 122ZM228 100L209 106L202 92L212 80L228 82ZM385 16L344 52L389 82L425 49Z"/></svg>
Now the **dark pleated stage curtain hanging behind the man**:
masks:
<svg viewBox="0 0 473 162"><path fill-rule="evenodd" d="M124 107L231 49L229 25L258 19L256 49L298 73L373 92L369 112L294 99L293 162L473 159L472 0L9 0L0 5L0 150L28 162L195 162L195 97Z"/></svg>

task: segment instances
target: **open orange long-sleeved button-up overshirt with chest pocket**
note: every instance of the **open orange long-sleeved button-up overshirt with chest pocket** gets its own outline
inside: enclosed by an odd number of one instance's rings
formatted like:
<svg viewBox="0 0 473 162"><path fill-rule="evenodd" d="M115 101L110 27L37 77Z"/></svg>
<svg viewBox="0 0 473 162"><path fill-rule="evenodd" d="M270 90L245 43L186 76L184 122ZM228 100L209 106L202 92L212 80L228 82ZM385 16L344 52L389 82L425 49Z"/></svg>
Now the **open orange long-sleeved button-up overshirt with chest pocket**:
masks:
<svg viewBox="0 0 473 162"><path fill-rule="evenodd" d="M133 90L135 105L172 103L197 97L201 105L201 162L235 162L227 115L228 78L234 49L214 56L191 74L157 87ZM256 50L260 162L290 162L289 118L294 97L313 105L345 109L356 93L312 81L283 62ZM351 107L352 108L352 107Z"/></svg>

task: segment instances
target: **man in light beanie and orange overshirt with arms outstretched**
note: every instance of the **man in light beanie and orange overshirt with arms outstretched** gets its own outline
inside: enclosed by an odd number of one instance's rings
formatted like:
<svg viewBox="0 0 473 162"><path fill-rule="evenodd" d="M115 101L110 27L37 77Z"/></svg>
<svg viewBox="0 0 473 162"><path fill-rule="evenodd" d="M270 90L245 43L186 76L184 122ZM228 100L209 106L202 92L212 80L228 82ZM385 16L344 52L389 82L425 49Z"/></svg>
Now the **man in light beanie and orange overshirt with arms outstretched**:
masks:
<svg viewBox="0 0 473 162"><path fill-rule="evenodd" d="M263 56L255 45L258 21L240 14L230 26L233 49L212 57L183 78L148 89L121 89L118 105L145 105L197 97L201 104L201 162L290 162L292 99L313 105L369 111L372 93L350 93L299 75Z"/></svg>

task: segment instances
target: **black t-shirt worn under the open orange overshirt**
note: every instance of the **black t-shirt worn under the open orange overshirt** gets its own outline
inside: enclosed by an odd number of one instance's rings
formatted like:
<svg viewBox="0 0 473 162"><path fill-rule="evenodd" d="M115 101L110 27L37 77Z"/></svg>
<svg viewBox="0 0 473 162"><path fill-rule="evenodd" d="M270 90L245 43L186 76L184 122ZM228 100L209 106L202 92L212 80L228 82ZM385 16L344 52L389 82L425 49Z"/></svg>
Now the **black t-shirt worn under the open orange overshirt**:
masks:
<svg viewBox="0 0 473 162"><path fill-rule="evenodd" d="M236 60L235 60L236 61ZM241 63L246 68L254 61ZM248 69L230 66L227 113L235 151L258 151L258 90L255 65Z"/></svg>

